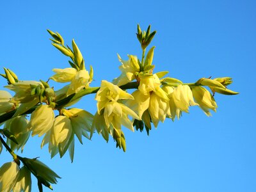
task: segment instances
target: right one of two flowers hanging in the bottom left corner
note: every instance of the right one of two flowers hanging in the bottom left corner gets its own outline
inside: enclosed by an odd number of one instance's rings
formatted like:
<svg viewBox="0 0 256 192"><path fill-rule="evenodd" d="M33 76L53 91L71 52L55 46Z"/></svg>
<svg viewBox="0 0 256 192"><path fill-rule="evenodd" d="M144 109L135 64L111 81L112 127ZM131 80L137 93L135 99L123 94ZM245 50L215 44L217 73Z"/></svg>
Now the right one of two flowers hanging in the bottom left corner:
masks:
<svg viewBox="0 0 256 192"><path fill-rule="evenodd" d="M22 166L22 168L20 168L19 177L13 187L13 191L31 191L31 172L26 166Z"/></svg>

